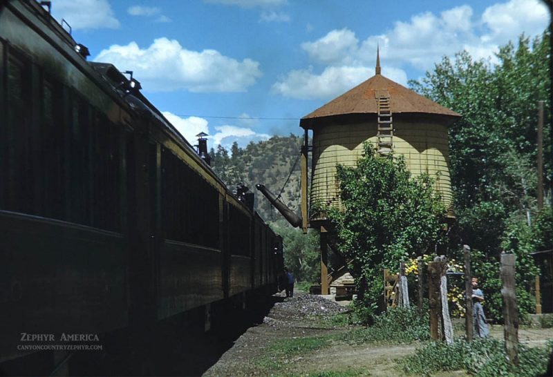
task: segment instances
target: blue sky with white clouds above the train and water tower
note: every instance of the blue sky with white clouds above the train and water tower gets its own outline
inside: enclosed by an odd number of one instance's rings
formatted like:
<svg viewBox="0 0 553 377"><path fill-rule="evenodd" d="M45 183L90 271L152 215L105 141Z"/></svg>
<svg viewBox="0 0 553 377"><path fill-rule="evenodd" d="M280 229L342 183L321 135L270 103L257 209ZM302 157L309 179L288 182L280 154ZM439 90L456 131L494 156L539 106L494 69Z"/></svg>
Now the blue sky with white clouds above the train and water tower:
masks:
<svg viewBox="0 0 553 377"><path fill-rule="evenodd" d="M489 59L549 23L541 0L53 0L89 59L132 70L195 144L302 133L299 119L375 74L407 86L443 56Z"/></svg>

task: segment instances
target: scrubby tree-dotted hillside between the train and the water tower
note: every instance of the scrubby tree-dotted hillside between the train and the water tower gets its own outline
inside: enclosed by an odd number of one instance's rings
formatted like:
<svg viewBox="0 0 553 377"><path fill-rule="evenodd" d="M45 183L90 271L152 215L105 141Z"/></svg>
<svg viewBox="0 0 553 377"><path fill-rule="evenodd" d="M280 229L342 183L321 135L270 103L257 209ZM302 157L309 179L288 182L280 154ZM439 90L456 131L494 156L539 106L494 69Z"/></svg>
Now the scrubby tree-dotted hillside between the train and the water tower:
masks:
<svg viewBox="0 0 553 377"><path fill-rule="evenodd" d="M265 184L275 195L283 189L286 178L290 180L284 187L281 200L294 211L299 211L299 152L303 138L297 135L273 136L261 142L250 142L240 148L236 142L230 151L218 146L212 148L212 167L215 173L236 190L236 185L245 184L255 193L255 209L265 221L278 220L278 211L272 210L268 200L255 188L258 183ZM295 167L294 167L294 163ZM294 170L292 171L292 168Z"/></svg>

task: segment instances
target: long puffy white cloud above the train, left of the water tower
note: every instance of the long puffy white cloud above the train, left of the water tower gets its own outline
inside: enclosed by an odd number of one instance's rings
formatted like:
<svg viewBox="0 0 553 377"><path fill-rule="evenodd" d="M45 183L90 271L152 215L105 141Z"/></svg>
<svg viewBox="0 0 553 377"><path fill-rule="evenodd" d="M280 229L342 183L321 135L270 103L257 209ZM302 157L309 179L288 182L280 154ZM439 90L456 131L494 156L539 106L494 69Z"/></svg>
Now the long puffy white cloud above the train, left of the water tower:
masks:
<svg viewBox="0 0 553 377"><path fill-rule="evenodd" d="M243 92L261 77L259 63L238 61L216 50L187 50L175 39L155 39L142 49L136 42L102 50L95 61L109 61L120 70L133 70L145 90Z"/></svg>

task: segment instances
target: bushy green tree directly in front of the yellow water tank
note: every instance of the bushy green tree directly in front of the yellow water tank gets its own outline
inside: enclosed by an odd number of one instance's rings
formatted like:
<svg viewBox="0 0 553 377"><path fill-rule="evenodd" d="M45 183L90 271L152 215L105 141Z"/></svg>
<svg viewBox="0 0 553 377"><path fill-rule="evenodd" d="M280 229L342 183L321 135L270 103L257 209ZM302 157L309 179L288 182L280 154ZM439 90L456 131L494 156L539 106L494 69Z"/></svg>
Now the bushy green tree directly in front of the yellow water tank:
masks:
<svg viewBox="0 0 553 377"><path fill-rule="evenodd" d="M397 270L411 255L432 250L442 238L445 208L429 175L411 177L402 157L379 157L364 144L357 166L338 166L344 211L326 209L338 247L348 260L359 297L376 309L382 270Z"/></svg>

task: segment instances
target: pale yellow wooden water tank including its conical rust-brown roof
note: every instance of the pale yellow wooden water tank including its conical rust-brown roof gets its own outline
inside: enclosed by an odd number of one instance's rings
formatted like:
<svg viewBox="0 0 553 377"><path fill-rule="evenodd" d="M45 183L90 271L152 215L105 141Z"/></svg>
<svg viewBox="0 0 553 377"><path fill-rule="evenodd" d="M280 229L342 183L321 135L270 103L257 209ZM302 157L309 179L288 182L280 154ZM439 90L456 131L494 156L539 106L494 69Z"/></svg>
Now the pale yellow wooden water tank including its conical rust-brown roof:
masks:
<svg viewBox="0 0 553 377"><path fill-rule="evenodd" d="M311 206L341 207L336 166L355 166L366 141L377 148L377 97L382 96L388 97L393 118L393 153L405 157L413 175L435 179L453 216L447 127L460 115L380 75L379 66L375 76L301 119L300 126L313 132Z"/></svg>

